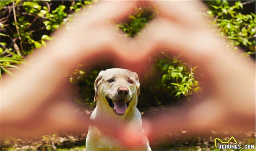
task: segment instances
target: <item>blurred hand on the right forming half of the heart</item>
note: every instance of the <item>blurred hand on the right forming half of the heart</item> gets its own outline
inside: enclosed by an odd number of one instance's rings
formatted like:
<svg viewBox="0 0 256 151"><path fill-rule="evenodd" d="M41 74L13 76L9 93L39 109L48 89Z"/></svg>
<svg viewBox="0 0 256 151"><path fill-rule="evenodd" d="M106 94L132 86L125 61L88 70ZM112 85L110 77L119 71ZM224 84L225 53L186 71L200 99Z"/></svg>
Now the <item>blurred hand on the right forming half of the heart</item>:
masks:
<svg viewBox="0 0 256 151"><path fill-rule="evenodd" d="M143 119L147 120L144 125L151 127L150 139L160 139L167 131L209 134L210 130L254 129L255 62L239 57L240 50L230 53L208 22L199 19L199 8L203 7L199 2L150 3L158 7L159 17L137 39L141 42L137 45L139 54L129 56L145 67L145 58L154 55L156 49L169 55L182 53L204 75L200 78L202 94L185 106L172 108L182 113L159 113Z"/></svg>

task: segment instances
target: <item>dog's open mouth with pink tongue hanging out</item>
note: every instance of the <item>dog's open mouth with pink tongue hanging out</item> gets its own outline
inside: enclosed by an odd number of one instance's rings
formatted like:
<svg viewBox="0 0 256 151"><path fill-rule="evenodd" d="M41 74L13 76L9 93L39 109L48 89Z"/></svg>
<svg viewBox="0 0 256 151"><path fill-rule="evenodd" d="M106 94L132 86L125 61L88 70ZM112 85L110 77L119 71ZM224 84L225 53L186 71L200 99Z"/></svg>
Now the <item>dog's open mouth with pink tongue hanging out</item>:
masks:
<svg viewBox="0 0 256 151"><path fill-rule="evenodd" d="M132 98L129 102L126 102L124 99L117 100L113 102L110 98L106 96L106 100L108 101L108 105L113 108L113 111L116 115L124 115L126 110L129 107L130 102L132 101Z"/></svg>

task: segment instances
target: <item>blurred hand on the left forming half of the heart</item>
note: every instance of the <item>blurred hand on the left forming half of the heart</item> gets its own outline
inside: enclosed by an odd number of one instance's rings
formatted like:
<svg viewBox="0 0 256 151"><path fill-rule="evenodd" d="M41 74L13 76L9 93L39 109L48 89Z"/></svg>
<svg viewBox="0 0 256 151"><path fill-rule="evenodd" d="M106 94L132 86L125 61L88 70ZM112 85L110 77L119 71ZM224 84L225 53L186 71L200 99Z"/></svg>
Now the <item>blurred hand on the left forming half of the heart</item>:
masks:
<svg viewBox="0 0 256 151"><path fill-rule="evenodd" d="M99 2L93 9L81 12L71 22L72 29L66 32L62 27L54 34L52 44L32 56L32 65L17 72L17 77L4 77L1 136L32 137L50 130L86 132L89 123L97 125L74 112L64 75L79 62L86 60L90 64L106 57L102 54L122 50L127 39L117 36L108 21L126 18L135 3Z"/></svg>

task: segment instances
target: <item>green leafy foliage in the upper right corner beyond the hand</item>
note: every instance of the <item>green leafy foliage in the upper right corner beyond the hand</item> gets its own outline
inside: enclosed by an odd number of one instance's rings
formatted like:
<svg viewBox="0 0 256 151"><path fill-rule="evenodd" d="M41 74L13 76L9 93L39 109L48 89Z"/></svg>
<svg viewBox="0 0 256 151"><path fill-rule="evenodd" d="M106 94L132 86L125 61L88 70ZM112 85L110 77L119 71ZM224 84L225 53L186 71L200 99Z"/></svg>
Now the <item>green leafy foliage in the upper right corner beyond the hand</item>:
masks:
<svg viewBox="0 0 256 151"><path fill-rule="evenodd" d="M242 14L243 4L249 2L237 1L232 6L226 0L208 1L210 10L207 15L214 17L213 24L220 30L221 35L228 38L228 46L236 50L240 46L245 55L255 55L256 19L255 13Z"/></svg>

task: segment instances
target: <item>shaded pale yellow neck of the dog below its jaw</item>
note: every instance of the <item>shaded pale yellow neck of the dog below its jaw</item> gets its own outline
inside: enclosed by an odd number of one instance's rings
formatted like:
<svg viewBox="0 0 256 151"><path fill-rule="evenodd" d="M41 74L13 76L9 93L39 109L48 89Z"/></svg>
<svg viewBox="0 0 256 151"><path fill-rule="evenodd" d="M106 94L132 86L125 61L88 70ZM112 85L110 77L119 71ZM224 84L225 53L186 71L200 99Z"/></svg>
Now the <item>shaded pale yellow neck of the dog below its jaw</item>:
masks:
<svg viewBox="0 0 256 151"><path fill-rule="evenodd" d="M108 105L108 102L104 97L98 96L96 101L97 116L99 117L108 116L117 120L128 120L129 117L132 116L131 114L134 113L136 106L137 106L137 98L135 97L130 102L129 107L126 110L126 113L124 115L116 115L113 111L113 108L111 108Z"/></svg>

